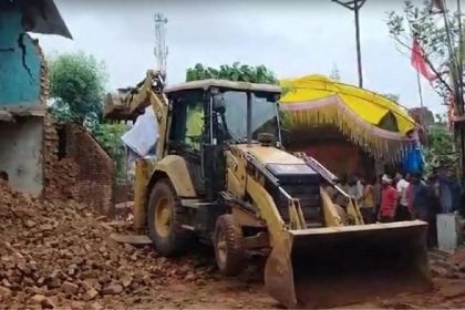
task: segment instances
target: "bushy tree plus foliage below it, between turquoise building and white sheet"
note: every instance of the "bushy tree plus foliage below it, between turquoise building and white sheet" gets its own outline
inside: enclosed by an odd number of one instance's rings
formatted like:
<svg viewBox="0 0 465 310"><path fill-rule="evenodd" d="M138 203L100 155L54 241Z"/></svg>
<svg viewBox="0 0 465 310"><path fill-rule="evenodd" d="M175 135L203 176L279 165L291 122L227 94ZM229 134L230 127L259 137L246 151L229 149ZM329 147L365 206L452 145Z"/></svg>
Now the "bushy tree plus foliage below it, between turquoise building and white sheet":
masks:
<svg viewBox="0 0 465 310"><path fill-rule="evenodd" d="M117 180L124 179L125 124L101 123L107 79L105 64L83 52L66 53L49 60L50 112L59 123L84 125L116 162Z"/></svg>

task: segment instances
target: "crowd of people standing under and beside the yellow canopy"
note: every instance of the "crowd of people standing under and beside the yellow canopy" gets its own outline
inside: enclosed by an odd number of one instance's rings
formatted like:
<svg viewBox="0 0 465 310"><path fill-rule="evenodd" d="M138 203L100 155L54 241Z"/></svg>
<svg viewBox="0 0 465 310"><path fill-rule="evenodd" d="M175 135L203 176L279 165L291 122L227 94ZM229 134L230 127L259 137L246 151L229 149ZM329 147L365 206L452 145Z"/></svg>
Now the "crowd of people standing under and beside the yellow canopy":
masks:
<svg viewBox="0 0 465 310"><path fill-rule="evenodd" d="M421 219L430 224L428 244L435 244L437 214L463 213L461 186L444 168L427 179L420 173L345 178L341 187L358 200L366 224Z"/></svg>

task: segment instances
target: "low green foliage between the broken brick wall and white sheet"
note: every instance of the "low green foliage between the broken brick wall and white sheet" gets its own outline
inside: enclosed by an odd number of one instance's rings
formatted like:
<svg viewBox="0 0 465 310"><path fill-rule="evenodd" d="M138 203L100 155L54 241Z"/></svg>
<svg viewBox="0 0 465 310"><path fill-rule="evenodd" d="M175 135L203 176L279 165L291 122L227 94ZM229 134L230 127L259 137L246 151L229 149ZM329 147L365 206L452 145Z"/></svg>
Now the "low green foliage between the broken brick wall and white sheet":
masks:
<svg viewBox="0 0 465 310"><path fill-rule="evenodd" d="M116 180L125 179L125 147L121 141L121 136L130 130L126 124L99 124L93 131L93 135L103 148L116 162Z"/></svg>

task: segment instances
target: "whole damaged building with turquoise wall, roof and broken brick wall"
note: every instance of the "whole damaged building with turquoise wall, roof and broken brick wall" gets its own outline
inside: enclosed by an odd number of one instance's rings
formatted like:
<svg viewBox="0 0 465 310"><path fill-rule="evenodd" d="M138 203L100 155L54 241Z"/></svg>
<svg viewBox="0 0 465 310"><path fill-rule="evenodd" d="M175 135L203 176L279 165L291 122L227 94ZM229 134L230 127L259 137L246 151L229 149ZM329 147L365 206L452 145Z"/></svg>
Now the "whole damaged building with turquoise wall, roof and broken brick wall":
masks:
<svg viewBox="0 0 465 310"><path fill-rule="evenodd" d="M108 210L114 162L84 128L53 124L48 66L28 32L72 39L52 0L0 2L0 172L17 190ZM76 145L86 145L85 154Z"/></svg>

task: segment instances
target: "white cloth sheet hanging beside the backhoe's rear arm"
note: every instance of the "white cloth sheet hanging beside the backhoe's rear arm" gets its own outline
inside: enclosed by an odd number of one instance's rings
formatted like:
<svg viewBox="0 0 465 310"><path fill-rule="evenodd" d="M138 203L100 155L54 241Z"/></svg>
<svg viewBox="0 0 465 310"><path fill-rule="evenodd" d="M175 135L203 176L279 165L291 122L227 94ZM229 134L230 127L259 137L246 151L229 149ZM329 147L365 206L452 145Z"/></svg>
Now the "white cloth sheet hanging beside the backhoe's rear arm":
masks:
<svg viewBox="0 0 465 310"><path fill-rule="evenodd" d="M145 157L159 137L158 122L152 106L137 117L134 126L121 137L123 143L135 154Z"/></svg>

